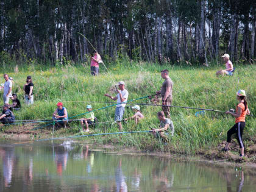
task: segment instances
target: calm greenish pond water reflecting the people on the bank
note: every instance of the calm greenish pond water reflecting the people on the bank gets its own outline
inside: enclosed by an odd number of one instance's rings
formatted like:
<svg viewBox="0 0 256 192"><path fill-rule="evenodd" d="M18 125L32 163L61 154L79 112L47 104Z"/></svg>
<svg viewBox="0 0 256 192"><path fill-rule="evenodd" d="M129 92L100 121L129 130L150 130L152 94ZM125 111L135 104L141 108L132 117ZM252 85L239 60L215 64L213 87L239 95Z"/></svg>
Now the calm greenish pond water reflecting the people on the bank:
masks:
<svg viewBox="0 0 256 192"><path fill-rule="evenodd" d="M0 141L0 191L255 191L252 170L51 141Z"/></svg>

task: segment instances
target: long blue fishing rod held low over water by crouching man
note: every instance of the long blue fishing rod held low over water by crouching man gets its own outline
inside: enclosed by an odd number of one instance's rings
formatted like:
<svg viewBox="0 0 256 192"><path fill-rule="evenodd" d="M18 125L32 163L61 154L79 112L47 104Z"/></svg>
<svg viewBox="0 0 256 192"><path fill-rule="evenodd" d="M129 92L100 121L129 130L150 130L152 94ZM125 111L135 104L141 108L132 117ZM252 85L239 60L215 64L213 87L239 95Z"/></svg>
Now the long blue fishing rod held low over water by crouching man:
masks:
<svg viewBox="0 0 256 192"><path fill-rule="evenodd" d="M38 142L38 141L65 140L67 138L91 137L91 136L99 136L99 135L117 135L117 134L126 134L126 133L148 133L148 132L152 132L152 130L138 130L138 131L114 132L114 133L96 133L96 134L90 134L90 135L55 137L55 138L47 138L47 139L41 139L41 140L35 140L35 141L25 141L21 143L13 143L13 144L24 144L24 143L32 143L32 142Z"/></svg>

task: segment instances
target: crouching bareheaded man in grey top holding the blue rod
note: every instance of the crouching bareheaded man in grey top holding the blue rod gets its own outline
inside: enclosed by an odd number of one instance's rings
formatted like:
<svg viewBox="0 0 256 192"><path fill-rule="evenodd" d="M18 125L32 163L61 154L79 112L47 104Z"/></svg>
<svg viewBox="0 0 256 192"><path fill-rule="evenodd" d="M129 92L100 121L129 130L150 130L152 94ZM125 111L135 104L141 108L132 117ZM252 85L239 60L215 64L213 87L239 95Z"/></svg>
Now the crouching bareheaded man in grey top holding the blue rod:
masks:
<svg viewBox="0 0 256 192"><path fill-rule="evenodd" d="M162 138L163 141L168 142L168 135L171 133L173 136L174 126L171 119L165 118L163 111L157 113L157 117L160 120L159 129L152 129L152 133L157 138Z"/></svg>

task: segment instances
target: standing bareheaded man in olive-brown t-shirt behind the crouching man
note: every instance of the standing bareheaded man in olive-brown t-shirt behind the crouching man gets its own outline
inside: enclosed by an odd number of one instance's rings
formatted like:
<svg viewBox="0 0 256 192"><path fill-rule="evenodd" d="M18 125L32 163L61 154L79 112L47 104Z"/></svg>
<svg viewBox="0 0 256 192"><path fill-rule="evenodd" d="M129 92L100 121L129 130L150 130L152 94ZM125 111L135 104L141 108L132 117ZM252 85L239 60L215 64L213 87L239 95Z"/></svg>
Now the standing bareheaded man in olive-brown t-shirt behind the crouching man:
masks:
<svg viewBox="0 0 256 192"><path fill-rule="evenodd" d="M161 77L165 79L160 91L157 94L161 94L162 105L171 105L172 102L172 86L173 82L169 77L168 69L161 71ZM162 110L165 113L166 118L170 118L170 107L162 106Z"/></svg>

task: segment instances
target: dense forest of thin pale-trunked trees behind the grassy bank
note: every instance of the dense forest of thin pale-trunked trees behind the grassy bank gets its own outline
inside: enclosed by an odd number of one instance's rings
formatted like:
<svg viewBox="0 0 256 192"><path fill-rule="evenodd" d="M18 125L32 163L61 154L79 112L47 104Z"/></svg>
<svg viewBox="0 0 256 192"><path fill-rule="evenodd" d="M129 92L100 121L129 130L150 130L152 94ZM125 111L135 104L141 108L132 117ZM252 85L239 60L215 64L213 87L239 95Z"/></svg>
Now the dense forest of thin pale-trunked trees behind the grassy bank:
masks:
<svg viewBox="0 0 256 192"><path fill-rule="evenodd" d="M232 62L256 56L252 0L0 0L0 12L0 58L16 63L86 62L87 39L107 61L208 65L225 52Z"/></svg>

